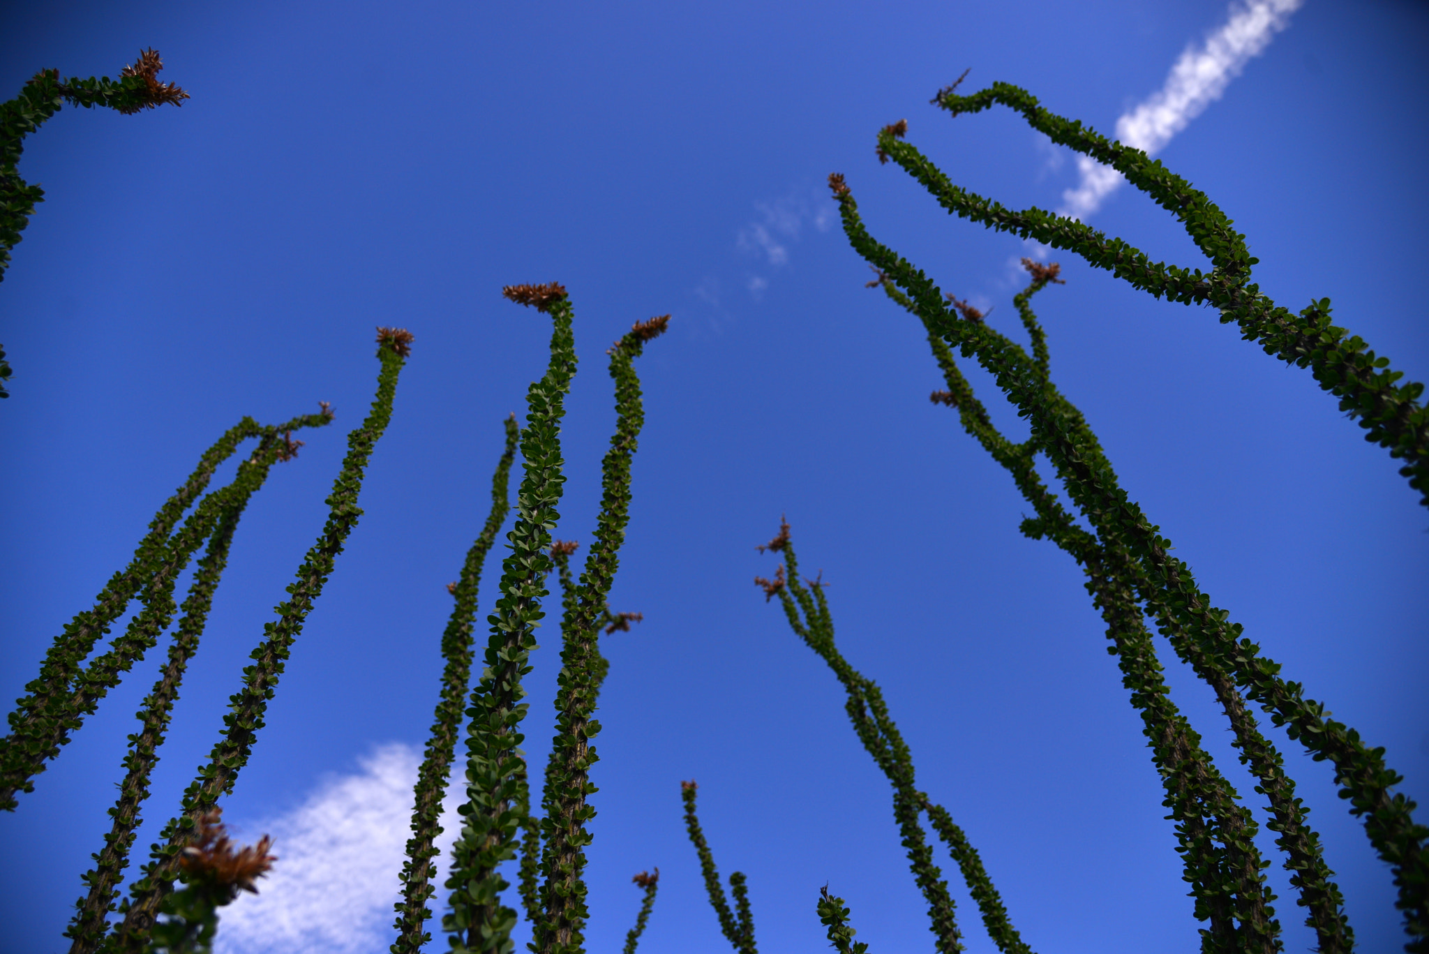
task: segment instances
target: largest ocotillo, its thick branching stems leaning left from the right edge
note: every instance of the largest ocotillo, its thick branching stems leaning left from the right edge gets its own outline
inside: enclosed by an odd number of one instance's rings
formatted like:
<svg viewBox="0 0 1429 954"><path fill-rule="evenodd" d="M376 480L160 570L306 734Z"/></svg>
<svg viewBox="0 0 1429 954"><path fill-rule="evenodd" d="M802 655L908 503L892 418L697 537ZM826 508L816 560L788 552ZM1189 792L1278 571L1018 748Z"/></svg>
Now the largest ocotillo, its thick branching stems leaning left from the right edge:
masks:
<svg viewBox="0 0 1429 954"><path fill-rule="evenodd" d="M1013 212L960 189L905 142L907 123L903 120L879 134L879 159L903 167L950 213L1072 250L1156 297L1216 306L1222 322L1236 322L1248 340L1256 340L1268 353L1289 363L1309 368L1323 389L1340 398L1340 408L1360 421L1369 432L1366 439L1408 462L1400 473L1429 502L1429 410L1418 400L1423 385L1396 383L1402 375L1388 370L1386 358L1375 356L1362 339L1332 326L1328 299L1295 315L1260 295L1250 283L1258 259L1249 255L1245 236L1233 232L1230 220L1209 197L1143 152L1110 143L1080 123L1043 110L1032 96L1013 86L997 83L972 96L959 96L956 87L953 83L940 90L933 103L955 116L976 113L993 103L1007 104L1053 142L1113 166L1182 222L1196 246L1210 257L1213 270L1203 275L1199 269L1153 263L1125 240L1107 239L1073 219L1040 209ZM1119 658L1133 705L1142 712L1153 761L1166 787L1166 804L1179 822L1177 837L1196 897L1196 917L1209 923L1202 931L1203 950L1280 950L1279 923L1259 874L1262 862L1252 842L1255 820L1235 805L1233 790L1215 772L1209 757L1199 749L1196 734L1166 698L1146 616L1155 621L1182 661L1216 691L1240 758L1256 777L1258 791L1269 800L1272 821L1268 827L1280 834L1278 845L1288 855L1286 867L1299 890L1299 904L1308 908L1308 924L1316 931L1319 950L1349 950L1353 935L1339 910L1339 890L1329 880L1319 838L1305 824L1283 759L1260 735L1246 699L1269 712L1272 722L1285 727L1316 759L1333 764L1340 795L1350 801L1353 814L1363 817L1370 844L1392 865L1399 890L1396 905L1405 914L1405 931L1410 938L1406 950L1429 951L1425 845L1429 828L1413 821L1415 804L1392 791L1402 777L1385 765L1382 748L1368 747L1355 729L1326 718L1323 704L1306 699L1300 684L1283 679L1280 667L1260 655L1259 646L1243 638L1242 626L1230 622L1229 612L1216 608L1200 591L1190 568L1169 555L1170 541L1160 536L1159 528L1119 488L1085 416L1052 383L1046 338L1029 300L1057 280L1056 266L1027 263L1032 285L1019 295L1016 305L1030 336L1029 355L992 329L979 310L943 295L922 270L875 240L859 217L843 176L832 174L829 186L839 203L845 233L875 270L869 285L882 286L917 316L929 333L947 383L947 390L935 392L933 399L957 408L965 429L1012 473L1033 505L1036 516L1025 521L1022 531L1056 542L1087 575L1087 589L1109 625L1113 644L1109 651ZM1027 441L1015 443L993 428L959 372L953 349L993 376L1019 416L1029 421ZM1050 461L1067 498L1093 532L1080 529L1042 483L1033 468L1039 453ZM789 578L776 579L787 585ZM770 581L766 592L775 585Z"/></svg>

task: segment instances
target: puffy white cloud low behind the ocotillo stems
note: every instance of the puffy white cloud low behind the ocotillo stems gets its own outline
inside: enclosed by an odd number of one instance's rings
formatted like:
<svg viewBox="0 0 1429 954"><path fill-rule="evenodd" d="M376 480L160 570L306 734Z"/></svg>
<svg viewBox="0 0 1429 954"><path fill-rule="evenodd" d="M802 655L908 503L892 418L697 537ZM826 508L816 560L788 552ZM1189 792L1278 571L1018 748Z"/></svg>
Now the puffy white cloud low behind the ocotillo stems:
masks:
<svg viewBox="0 0 1429 954"><path fill-rule="evenodd" d="M277 862L259 881L260 894L223 908L219 954L386 951L419 762L410 745L379 747L359 762L359 772L329 781L293 811L246 821L246 832L273 835ZM427 903L437 915L429 923L433 934L440 934L442 882L459 822L456 798L449 797L437 840L437 894Z"/></svg>

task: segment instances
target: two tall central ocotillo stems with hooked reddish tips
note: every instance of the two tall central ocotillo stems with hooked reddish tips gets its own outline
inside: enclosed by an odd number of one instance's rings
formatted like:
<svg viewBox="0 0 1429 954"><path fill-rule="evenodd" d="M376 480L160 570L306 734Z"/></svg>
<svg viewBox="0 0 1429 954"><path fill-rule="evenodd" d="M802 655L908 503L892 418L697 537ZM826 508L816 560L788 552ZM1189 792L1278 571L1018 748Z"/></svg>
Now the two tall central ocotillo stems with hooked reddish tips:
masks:
<svg viewBox="0 0 1429 954"><path fill-rule="evenodd" d="M507 535L512 554L503 562L502 596L489 618L492 635L486 649L486 671L472 692L467 735L467 801L459 842L453 848L452 914L443 928L456 951L506 951L516 924L514 910L504 907L500 892L509 887L497 868L517 855L517 832L524 830L522 898L533 921L532 948L566 954L582 948L584 905L584 845L590 842L586 822L594 810L586 797L596 791L589 781L596 761L590 739L600 731L590 718L606 661L600 655L600 628L627 628L629 614L610 614L606 596L614 581L617 554L624 539L630 502L630 459L643 422L640 382L633 360L644 342L660 335L669 316L636 323L607 352L616 383L616 433L602 465L602 511L594 544L579 582L570 579L567 561L574 546L553 545L562 473L559 423L564 395L574 373L570 302L560 285L519 285L506 296L552 316L550 365L546 376L527 392L527 426L522 432L524 478L517 496L517 519ZM534 629L544 616L540 599L547 595L546 574L560 569L564 589L562 614L562 671L556 695L556 728L546 771L542 805L544 818L533 832L530 787L524 759L517 747L529 707L522 678L530 672ZM542 844L543 842L543 844ZM536 852L540 861L536 861ZM537 875L542 882L537 885Z"/></svg>

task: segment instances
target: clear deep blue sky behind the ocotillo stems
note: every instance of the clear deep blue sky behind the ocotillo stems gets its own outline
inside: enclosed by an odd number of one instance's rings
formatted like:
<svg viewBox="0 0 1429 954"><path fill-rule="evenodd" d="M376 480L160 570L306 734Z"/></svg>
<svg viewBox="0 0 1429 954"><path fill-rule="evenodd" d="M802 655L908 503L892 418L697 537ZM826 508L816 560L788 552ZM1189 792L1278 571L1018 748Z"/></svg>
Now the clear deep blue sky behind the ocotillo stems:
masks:
<svg viewBox="0 0 1429 954"><path fill-rule="evenodd" d="M280 861L220 931L234 954L386 951L443 585L484 518L500 422L546 360L544 320L499 290L560 280L583 362L563 432L566 539L589 541L594 523L613 425L603 350L634 320L674 316L640 362L647 423L612 604L644 622L604 646L590 950L623 943L639 905L629 878L654 865L640 950L727 950L684 840L689 778L720 870L749 875L763 950L826 944L825 882L873 951L929 948L887 785L833 675L752 584L775 566L755 545L780 513L803 566L823 569L840 645L883 687L920 785L965 827L1027 943L1190 950L1198 924L1172 827L1079 571L1019 535L1026 505L1010 479L927 402L940 380L920 329L863 289L823 182L842 172L876 236L1010 328L1027 249L949 219L879 166L877 129L906 117L909 140L955 182L1063 207L1083 182L1075 156L1006 110L953 120L927 99L970 67L973 89L1012 82L1116 134L1232 10L7 7L0 90L41 67L113 76L153 46L161 79L193 99L140 116L66 109L26 143L21 173L49 199L0 285L16 369L0 406L4 698L223 429L336 406L337 425L307 438L243 521L154 777L147 845L322 526L343 432L370 400L373 326L410 328L366 516L226 810L249 840L274 832ZM1338 323L1429 379L1416 280L1429 13L1309 0L1272 33L1157 154L1246 233L1263 292L1296 309L1329 296ZM1126 187L1086 217L1203 267L1169 216ZM1395 463L1306 372L1212 312L1053 257L1067 285L1037 299L1053 375L1123 486L1286 677L1383 745L1403 791L1423 798L1429 522ZM1016 428L990 382L970 376ZM489 584L496 575L493 558ZM489 585L483 609L492 599ZM554 642L546 632L530 679L537 754ZM1162 649L1176 701L1259 810L1209 689ZM67 948L60 931L157 659L0 818L11 858L0 950ZM1398 950L1388 868L1328 767L1276 738L1362 948ZM1270 852L1286 948L1303 950L1312 937ZM993 950L953 865L945 872L969 951Z"/></svg>

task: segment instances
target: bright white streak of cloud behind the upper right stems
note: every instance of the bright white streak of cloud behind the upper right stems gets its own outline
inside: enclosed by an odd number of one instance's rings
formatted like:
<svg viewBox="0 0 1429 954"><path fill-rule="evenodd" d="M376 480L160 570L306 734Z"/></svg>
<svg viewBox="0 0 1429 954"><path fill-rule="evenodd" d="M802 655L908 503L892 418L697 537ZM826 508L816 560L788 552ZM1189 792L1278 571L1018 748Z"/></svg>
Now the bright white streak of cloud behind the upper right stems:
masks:
<svg viewBox="0 0 1429 954"><path fill-rule="evenodd" d="M1136 109L1116 120L1116 137L1126 146L1159 152L1210 103L1246 62L1265 50L1270 39L1290 23L1302 0L1249 0L1233 3L1226 23L1199 46L1189 46L1170 67L1166 84ZM1062 193L1060 215L1085 219L1122 185L1122 173L1095 159L1077 156L1082 182Z"/></svg>

